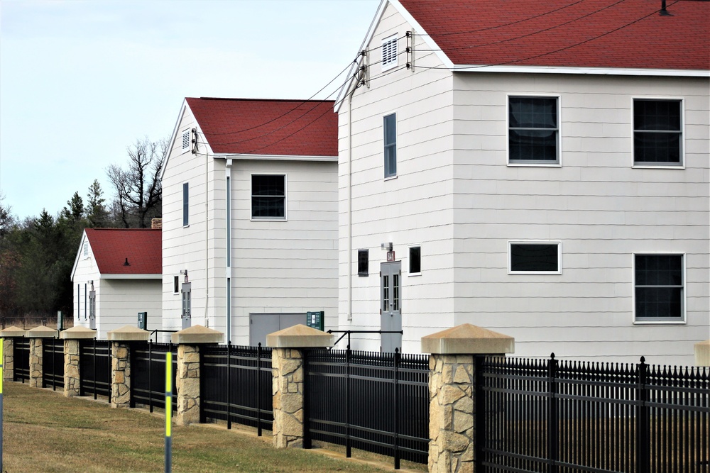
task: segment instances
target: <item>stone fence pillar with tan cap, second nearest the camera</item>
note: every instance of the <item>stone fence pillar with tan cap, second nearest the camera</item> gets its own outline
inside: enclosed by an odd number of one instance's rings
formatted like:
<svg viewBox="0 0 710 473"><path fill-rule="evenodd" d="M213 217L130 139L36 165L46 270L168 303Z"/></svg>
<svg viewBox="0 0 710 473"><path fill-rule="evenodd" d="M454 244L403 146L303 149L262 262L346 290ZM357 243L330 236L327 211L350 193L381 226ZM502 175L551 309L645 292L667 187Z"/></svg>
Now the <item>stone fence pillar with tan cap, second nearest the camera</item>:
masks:
<svg viewBox="0 0 710 473"><path fill-rule="evenodd" d="M303 446L303 355L305 348L333 345L335 336L305 325L266 335L266 345L273 347L273 446Z"/></svg>

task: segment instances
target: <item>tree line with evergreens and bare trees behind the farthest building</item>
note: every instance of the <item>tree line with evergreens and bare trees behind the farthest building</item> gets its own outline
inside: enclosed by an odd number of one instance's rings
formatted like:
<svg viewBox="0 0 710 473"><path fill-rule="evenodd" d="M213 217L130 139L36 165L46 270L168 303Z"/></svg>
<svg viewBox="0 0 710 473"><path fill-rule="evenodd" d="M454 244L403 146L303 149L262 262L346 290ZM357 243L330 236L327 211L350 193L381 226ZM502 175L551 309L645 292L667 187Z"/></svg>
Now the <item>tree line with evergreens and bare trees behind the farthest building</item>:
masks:
<svg viewBox="0 0 710 473"><path fill-rule="evenodd" d="M109 201L98 179L56 216L45 209L20 221L0 194L0 317L72 314L71 272L84 228L150 228L163 210L160 172L168 140L136 140L128 162L111 165Z"/></svg>

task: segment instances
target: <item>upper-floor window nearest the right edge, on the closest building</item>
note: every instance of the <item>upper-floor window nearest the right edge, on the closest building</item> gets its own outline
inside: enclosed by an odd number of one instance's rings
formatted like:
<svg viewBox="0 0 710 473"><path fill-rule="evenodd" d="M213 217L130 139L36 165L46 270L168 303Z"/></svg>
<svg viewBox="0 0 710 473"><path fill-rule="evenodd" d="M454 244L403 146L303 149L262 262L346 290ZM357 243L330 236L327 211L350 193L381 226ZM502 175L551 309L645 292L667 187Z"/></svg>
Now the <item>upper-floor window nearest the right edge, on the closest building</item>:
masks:
<svg viewBox="0 0 710 473"><path fill-rule="evenodd" d="M681 99L633 99L633 165L683 166Z"/></svg>

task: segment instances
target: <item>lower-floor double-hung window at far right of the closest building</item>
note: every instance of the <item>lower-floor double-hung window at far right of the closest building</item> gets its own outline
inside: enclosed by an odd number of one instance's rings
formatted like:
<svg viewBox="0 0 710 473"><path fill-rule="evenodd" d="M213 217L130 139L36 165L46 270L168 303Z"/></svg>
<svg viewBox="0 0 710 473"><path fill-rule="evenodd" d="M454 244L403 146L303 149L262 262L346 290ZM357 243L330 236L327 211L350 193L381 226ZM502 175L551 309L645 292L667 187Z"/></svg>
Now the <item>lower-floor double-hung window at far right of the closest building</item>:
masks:
<svg viewBox="0 0 710 473"><path fill-rule="evenodd" d="M633 255L635 322L685 322L685 257L672 253Z"/></svg>

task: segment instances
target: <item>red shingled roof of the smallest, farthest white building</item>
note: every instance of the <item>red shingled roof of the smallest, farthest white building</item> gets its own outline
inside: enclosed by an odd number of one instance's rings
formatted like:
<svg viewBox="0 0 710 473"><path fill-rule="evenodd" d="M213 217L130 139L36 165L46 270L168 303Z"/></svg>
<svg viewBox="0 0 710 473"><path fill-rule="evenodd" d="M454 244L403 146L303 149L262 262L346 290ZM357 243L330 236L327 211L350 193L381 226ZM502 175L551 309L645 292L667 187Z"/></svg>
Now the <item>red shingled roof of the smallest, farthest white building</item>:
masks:
<svg viewBox="0 0 710 473"><path fill-rule="evenodd" d="M151 228L87 228L101 274L162 274L161 230ZM126 266L126 258L129 265Z"/></svg>

